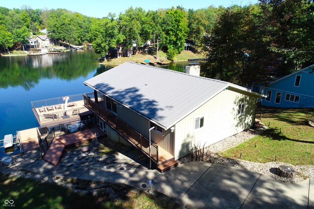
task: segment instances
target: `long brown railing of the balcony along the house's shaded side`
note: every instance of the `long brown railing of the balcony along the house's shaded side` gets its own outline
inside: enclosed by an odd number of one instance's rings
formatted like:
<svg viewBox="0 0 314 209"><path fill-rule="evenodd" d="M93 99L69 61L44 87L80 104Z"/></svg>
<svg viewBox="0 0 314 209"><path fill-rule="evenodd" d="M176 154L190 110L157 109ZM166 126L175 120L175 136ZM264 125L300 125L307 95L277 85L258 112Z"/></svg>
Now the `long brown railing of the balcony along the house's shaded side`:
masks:
<svg viewBox="0 0 314 209"><path fill-rule="evenodd" d="M104 107L95 102L94 93L83 94L85 106L100 116L105 122L115 129L123 138L129 140L147 156L149 156L149 139L146 139L140 133L135 131L126 122L114 116ZM101 94L98 93L98 102L103 101ZM158 145L151 142L151 157L152 160L158 164Z"/></svg>

